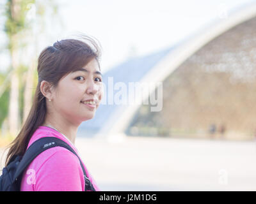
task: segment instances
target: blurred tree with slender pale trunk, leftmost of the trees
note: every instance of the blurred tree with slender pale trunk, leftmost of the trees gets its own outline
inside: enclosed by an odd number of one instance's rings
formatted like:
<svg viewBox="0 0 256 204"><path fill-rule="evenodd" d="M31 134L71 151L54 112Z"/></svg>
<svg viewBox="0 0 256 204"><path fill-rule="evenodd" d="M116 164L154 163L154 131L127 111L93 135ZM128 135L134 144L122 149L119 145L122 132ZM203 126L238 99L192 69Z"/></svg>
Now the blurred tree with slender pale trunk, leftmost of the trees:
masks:
<svg viewBox="0 0 256 204"><path fill-rule="evenodd" d="M20 126L19 117L19 47L22 31L26 29L26 13L29 4L35 0L8 0L6 3L6 24L4 31L8 36L8 48L11 56L10 100L8 107L8 129L10 135L17 135Z"/></svg>

